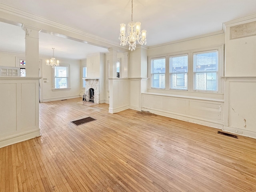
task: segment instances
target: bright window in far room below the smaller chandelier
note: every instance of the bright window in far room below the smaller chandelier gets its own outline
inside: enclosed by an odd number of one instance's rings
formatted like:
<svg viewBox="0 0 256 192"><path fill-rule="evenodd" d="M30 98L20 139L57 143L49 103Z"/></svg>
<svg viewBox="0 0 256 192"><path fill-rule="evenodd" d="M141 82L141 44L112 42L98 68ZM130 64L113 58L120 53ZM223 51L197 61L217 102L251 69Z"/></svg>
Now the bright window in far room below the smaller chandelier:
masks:
<svg viewBox="0 0 256 192"><path fill-rule="evenodd" d="M55 66L54 77L55 89L68 88L68 66Z"/></svg>

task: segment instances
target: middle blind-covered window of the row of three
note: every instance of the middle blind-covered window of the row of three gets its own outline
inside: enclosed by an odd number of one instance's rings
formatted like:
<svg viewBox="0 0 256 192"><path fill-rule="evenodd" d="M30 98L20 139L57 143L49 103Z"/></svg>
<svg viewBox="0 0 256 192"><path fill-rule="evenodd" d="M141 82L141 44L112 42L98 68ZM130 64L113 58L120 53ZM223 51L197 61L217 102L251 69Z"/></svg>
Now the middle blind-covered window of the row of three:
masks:
<svg viewBox="0 0 256 192"><path fill-rule="evenodd" d="M170 89L188 90L188 55L170 57Z"/></svg>

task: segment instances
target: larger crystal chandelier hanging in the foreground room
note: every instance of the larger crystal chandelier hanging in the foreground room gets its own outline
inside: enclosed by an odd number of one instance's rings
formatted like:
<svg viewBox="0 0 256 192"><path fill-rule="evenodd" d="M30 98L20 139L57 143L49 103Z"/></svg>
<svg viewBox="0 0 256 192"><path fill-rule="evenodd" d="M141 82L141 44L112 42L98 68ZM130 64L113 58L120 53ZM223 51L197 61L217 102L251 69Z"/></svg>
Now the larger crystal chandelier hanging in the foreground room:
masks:
<svg viewBox="0 0 256 192"><path fill-rule="evenodd" d="M133 6L132 6L133 13ZM129 22L127 32L125 33L125 24L120 24L120 45L125 46L129 44L129 50L133 51L136 48L136 40L140 45L147 43L146 30L140 32L140 22Z"/></svg>

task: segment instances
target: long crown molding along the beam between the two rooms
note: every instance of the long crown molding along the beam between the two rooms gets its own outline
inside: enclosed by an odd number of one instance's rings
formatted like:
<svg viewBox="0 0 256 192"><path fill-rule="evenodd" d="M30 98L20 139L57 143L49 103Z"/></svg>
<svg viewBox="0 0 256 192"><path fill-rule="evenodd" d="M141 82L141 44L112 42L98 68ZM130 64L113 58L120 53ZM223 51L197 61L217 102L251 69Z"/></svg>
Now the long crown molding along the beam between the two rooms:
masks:
<svg viewBox="0 0 256 192"><path fill-rule="evenodd" d="M22 18L26 18L28 20L32 20L32 21L35 21L35 22L39 22L41 24L46 24L46 25L52 26L54 28L59 28L59 29L62 29L62 30L66 30L68 32L73 32L75 34L86 36L86 37L92 38L96 41L100 40L101 42L123 48L122 46L120 46L120 44L118 42L114 42L112 40L108 40L108 39L102 38L100 36L96 36L94 34L86 32L86 31L83 31L83 30L80 30L80 29L77 29L77 28L59 23L59 22L55 22L53 20L49 20L49 19L44 18L42 16L38 16L36 14L26 12L24 10L9 6L9 5L1 3L1 2L0 2L0 11L6 12L8 14L15 15L15 16L19 16L19 17L22 17Z"/></svg>

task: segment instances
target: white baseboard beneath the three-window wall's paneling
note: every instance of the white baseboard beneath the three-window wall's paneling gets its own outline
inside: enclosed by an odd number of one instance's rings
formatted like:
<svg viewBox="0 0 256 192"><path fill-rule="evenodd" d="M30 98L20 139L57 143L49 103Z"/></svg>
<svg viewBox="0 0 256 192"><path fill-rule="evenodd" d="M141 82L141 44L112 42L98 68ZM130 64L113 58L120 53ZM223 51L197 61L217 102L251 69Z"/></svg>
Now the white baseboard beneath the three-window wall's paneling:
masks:
<svg viewBox="0 0 256 192"><path fill-rule="evenodd" d="M147 111L147 112L150 112L153 114L170 117L170 118L174 118L174 119L178 119L178 120L182 120L182 121L192 122L195 124L209 126L209 127L213 127L213 128L217 128L217 129L223 128L222 122L213 122L213 121L209 121L209 120L203 120L203 119L189 117L189 116L182 116L182 115L172 114L172 113L168 113L168 112L162 112L160 110L152 110L152 109L148 109L148 108L143 108L143 107L142 107L142 111Z"/></svg>

